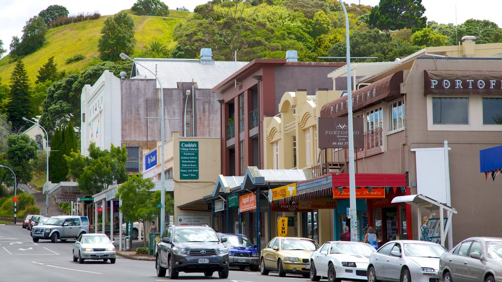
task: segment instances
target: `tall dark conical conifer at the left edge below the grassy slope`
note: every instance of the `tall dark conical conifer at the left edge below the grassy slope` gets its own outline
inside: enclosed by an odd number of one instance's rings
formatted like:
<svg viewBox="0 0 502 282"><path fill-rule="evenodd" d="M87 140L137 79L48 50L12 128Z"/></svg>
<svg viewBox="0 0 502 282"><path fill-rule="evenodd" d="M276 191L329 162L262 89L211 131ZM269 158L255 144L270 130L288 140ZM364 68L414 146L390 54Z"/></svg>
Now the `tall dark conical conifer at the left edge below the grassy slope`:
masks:
<svg viewBox="0 0 502 282"><path fill-rule="evenodd" d="M30 80L22 60L19 60L14 67L9 96L10 101L7 103L9 120L12 122L15 131L20 130L26 125L23 117L33 117Z"/></svg>

